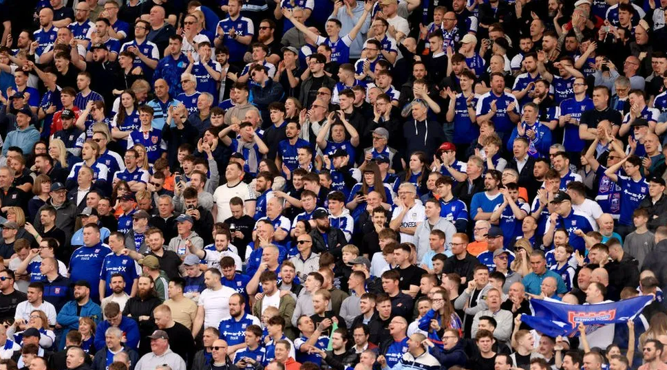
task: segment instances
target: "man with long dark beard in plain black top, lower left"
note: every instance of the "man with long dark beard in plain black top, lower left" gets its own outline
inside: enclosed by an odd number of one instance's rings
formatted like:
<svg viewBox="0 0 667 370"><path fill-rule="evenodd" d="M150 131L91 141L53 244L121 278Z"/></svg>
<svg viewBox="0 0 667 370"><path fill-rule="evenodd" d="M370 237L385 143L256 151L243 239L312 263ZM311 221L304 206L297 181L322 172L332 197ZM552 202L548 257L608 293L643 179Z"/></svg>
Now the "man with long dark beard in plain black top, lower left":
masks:
<svg viewBox="0 0 667 370"><path fill-rule="evenodd" d="M137 284L137 295L127 300L123 309L123 316L136 320L141 338L145 338L155 329L153 309L160 304L162 304L162 300L157 297L155 283L153 283L151 276L140 276ZM146 353L147 350L147 343L142 340L139 353Z"/></svg>

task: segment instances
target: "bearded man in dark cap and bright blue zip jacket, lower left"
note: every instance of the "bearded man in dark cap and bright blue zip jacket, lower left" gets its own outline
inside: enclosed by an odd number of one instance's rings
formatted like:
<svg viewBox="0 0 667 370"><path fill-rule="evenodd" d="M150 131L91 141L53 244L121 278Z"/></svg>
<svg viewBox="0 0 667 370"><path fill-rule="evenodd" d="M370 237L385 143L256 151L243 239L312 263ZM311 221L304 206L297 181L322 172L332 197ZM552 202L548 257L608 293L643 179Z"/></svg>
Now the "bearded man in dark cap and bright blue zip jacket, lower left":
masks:
<svg viewBox="0 0 667 370"><path fill-rule="evenodd" d="M74 301L66 303L56 316L56 322L63 327L59 348L65 347L65 336L70 330L78 329L79 318L82 317L96 322L102 318L102 309L90 300L90 284L85 280L74 283Z"/></svg>

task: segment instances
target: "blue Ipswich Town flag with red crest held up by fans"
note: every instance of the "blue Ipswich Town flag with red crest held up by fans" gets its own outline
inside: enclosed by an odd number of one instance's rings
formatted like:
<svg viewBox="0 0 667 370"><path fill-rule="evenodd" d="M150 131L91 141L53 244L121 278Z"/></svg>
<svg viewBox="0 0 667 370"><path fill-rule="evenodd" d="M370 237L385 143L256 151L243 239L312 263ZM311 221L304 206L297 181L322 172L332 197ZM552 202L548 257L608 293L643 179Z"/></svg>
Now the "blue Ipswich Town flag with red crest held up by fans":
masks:
<svg viewBox="0 0 667 370"><path fill-rule="evenodd" d="M653 296L638 296L618 302L595 305L569 305L557 301L531 299L532 316L521 315L521 322L547 336L577 336L579 323L607 325L626 323L642 313Z"/></svg>

